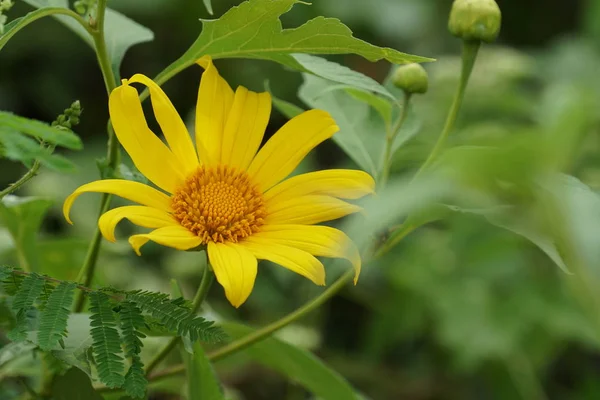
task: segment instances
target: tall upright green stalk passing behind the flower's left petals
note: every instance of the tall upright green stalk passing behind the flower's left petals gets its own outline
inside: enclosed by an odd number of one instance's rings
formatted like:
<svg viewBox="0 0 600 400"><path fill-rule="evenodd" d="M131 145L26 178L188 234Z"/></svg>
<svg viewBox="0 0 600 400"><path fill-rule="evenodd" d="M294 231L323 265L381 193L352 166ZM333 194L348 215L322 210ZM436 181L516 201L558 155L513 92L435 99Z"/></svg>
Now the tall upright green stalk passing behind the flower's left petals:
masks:
<svg viewBox="0 0 600 400"><path fill-rule="evenodd" d="M96 56L98 58L98 64L104 78L104 85L106 86L106 92L110 93L117 87L114 73L110 65L110 59L108 58L108 52L106 50L106 40L104 37L104 16L106 13L106 0L98 0L98 14L96 16L96 29L91 32L94 40L94 46L96 48ZM106 159L108 162L109 169L115 169L119 163L119 143L115 137L112 128L107 129L108 131L108 150ZM100 202L100 214L106 212L110 206L109 194L104 194ZM88 252L85 257L85 261L79 275L77 276L77 282L83 286L90 286L94 277L96 263L98 261L98 255L100 253L100 244L102 243L102 234L100 229L96 228ZM83 292L78 292L74 303L74 312L81 312L85 305L85 296Z"/></svg>

